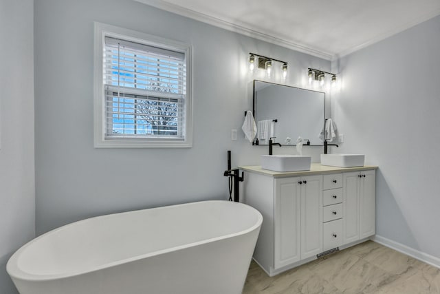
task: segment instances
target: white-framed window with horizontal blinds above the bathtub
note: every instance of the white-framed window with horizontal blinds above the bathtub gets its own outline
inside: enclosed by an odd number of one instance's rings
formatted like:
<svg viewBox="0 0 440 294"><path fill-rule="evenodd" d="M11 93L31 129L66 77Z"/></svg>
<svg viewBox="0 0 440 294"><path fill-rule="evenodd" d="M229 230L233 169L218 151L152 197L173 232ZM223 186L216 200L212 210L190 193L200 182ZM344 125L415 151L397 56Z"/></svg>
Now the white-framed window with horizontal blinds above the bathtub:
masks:
<svg viewBox="0 0 440 294"><path fill-rule="evenodd" d="M191 147L190 47L95 23L95 147Z"/></svg>

